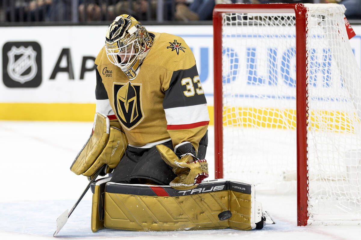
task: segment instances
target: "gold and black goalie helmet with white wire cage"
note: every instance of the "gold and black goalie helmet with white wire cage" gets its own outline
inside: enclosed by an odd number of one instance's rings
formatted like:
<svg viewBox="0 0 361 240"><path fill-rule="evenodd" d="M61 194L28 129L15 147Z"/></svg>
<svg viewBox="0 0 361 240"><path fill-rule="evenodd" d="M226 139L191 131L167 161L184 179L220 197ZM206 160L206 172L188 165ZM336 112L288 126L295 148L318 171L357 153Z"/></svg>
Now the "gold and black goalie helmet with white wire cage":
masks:
<svg viewBox="0 0 361 240"><path fill-rule="evenodd" d="M109 61L120 67L130 79L136 77L151 44L148 31L127 14L116 17L106 30L106 55Z"/></svg>

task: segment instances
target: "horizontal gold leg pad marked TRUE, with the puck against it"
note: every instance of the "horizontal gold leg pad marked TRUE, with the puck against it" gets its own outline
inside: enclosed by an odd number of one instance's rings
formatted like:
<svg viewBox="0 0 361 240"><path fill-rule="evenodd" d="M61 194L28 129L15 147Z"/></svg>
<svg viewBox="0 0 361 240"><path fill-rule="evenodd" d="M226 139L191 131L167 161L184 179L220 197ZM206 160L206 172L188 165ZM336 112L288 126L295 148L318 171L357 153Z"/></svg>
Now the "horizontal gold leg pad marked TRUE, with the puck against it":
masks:
<svg viewBox="0 0 361 240"><path fill-rule="evenodd" d="M178 194L178 196L172 196L170 192L173 193L176 190L170 187L164 187L164 192L170 193L169 196L168 194L165 194L167 196L136 194L142 193L143 190L130 193L133 191L129 190L132 186L123 193L114 190L113 187L112 191L105 191L104 226L133 231L218 228L251 230L252 198L254 198L254 194L251 194L251 185L247 188L247 191L249 189L247 193L242 193L228 190L227 183L221 190L220 183L216 182L219 189L216 191L207 191L212 185L206 185L203 188L200 185L195 190L177 192L175 195ZM121 184L113 185L121 187ZM144 188L149 188L149 186L144 185ZM231 211L232 216L221 221L218 214L228 210Z"/></svg>

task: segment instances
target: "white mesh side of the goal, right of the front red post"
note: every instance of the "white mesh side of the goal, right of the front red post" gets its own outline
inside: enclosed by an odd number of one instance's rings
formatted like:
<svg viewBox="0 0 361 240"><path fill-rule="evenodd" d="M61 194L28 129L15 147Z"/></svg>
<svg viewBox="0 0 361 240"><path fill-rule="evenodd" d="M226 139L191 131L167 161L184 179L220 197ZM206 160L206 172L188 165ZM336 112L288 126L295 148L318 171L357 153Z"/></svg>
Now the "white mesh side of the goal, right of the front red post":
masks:
<svg viewBox="0 0 361 240"><path fill-rule="evenodd" d="M310 219L361 219L360 67L343 5L306 6Z"/></svg>

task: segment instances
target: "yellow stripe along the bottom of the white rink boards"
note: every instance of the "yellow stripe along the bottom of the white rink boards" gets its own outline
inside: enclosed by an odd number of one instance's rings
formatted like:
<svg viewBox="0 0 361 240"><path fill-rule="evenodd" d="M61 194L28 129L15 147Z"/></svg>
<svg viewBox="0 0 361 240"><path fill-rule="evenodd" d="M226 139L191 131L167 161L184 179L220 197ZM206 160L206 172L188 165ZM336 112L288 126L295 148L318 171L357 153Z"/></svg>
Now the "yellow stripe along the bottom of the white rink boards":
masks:
<svg viewBox="0 0 361 240"><path fill-rule="evenodd" d="M208 106L210 125L214 108ZM0 103L0 120L7 121L94 121L93 103ZM311 126L316 130L355 133L361 124L356 113L313 110ZM296 110L275 108L229 107L223 110L224 126L296 129Z"/></svg>

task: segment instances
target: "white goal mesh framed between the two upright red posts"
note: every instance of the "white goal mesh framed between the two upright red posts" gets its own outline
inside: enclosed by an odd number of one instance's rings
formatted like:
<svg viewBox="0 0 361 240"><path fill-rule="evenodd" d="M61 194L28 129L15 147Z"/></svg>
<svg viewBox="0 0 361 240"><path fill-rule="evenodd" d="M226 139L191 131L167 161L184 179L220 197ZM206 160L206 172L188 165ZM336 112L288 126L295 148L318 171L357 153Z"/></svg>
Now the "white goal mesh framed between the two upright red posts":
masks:
<svg viewBox="0 0 361 240"><path fill-rule="evenodd" d="M257 190L296 173L294 25L294 14L223 14L224 177Z"/></svg>

